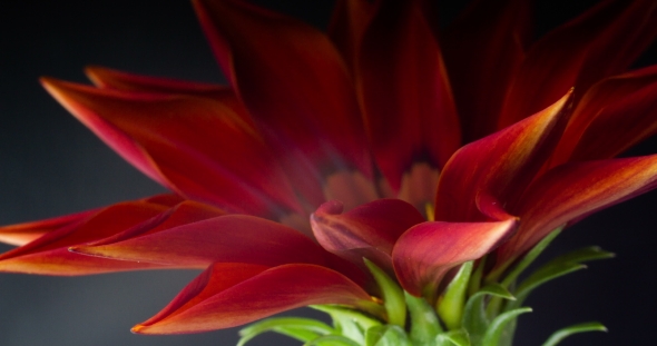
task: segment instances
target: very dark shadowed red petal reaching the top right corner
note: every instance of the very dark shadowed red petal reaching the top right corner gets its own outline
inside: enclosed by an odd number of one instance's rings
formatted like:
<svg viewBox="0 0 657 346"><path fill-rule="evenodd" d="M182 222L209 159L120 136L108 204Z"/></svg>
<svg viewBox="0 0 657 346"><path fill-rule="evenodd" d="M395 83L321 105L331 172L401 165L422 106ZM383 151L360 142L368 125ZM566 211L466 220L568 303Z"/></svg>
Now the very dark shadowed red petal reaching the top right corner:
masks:
<svg viewBox="0 0 657 346"><path fill-rule="evenodd" d="M499 128L555 102L576 101L598 80L624 71L657 34L654 0L604 1L532 46L507 97Z"/></svg>

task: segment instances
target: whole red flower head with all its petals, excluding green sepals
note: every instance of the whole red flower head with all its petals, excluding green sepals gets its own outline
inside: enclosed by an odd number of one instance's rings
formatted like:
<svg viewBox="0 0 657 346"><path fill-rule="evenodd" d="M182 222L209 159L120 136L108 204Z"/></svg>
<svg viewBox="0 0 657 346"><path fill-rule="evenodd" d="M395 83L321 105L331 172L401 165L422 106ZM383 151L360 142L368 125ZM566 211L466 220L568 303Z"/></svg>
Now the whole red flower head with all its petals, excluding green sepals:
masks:
<svg viewBox="0 0 657 346"><path fill-rule="evenodd" d="M657 34L651 0L605 1L535 42L524 1L478 1L444 30L424 1L337 1L329 34L194 3L229 86L42 79L173 194L1 228L24 245L0 270L207 268L138 333L316 304L386 319L363 257L434 301L459 265L494 251L501 273L657 184L657 156L612 158L657 131L657 68L625 72Z"/></svg>

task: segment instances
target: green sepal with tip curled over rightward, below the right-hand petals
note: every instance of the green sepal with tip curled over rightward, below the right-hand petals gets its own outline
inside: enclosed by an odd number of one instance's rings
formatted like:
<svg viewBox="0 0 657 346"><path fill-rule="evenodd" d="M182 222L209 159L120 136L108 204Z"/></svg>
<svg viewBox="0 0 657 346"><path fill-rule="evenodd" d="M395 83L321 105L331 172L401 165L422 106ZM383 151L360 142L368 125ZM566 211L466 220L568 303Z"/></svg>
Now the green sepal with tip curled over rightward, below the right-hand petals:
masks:
<svg viewBox="0 0 657 346"><path fill-rule="evenodd" d="M483 335L490 325L484 308L484 298L487 295L508 300L516 299L516 297L513 297L513 295L500 284L489 284L468 299L463 310L462 326L470 333L472 345L481 344Z"/></svg>

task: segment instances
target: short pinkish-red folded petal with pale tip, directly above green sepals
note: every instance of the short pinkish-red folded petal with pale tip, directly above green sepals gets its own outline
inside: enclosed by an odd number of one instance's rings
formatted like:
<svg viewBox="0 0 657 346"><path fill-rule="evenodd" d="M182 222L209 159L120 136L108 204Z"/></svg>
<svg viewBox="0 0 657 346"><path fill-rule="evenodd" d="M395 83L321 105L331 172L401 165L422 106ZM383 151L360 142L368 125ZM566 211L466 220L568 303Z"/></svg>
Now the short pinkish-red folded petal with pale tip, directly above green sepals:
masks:
<svg viewBox="0 0 657 346"><path fill-rule="evenodd" d="M514 229L516 219L499 223L424 223L404 233L392 253L394 271L410 294L434 300L444 274L496 248Z"/></svg>

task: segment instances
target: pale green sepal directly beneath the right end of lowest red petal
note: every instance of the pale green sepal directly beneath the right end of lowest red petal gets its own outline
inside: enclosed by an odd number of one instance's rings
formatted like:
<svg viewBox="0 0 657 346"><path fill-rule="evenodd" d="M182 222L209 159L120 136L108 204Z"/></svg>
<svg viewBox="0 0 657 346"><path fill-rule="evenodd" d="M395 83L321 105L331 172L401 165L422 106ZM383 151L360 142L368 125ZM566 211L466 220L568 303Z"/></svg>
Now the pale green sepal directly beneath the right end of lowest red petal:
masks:
<svg viewBox="0 0 657 346"><path fill-rule="evenodd" d="M337 305L311 305L308 307L329 314L333 319L333 326L337 334L360 344L365 342L365 332L367 329L381 325L381 322L361 312Z"/></svg>

